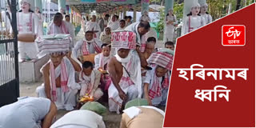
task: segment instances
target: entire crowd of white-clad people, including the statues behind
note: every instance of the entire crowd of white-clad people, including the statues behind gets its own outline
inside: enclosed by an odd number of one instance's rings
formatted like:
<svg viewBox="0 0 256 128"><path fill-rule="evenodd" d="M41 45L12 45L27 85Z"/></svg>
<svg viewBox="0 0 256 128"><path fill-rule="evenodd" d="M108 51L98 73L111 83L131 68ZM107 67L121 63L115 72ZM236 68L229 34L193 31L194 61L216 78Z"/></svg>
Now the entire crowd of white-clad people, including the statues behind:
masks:
<svg viewBox="0 0 256 128"><path fill-rule="evenodd" d="M42 35L42 26L39 25L42 15L38 9L33 13L27 0L22 0L20 5L22 10L17 15L18 50L23 62L37 58L35 37ZM194 20L200 19L204 24L204 18L207 18L211 22L206 9L201 10L202 17L198 18L198 6L191 9L188 32L196 27ZM157 106L166 106L170 86L176 22L173 10L166 15L167 36L165 48L161 49L155 48L157 37L150 33L150 17L146 11L140 22L134 23L130 16L120 20L117 15L110 17L109 14L98 22L95 15L90 21L85 19L82 28L85 36L76 42L70 16L54 14L47 34L69 34L69 50L54 44L46 48L45 54L50 56L50 60L40 70L44 82L35 90L39 98L21 98L1 107L0 114L6 116L0 117L0 127L50 127L57 110L73 111L51 127L105 127L102 116L96 111L75 110L78 109L79 98L84 96L89 96L93 102L107 101L111 112L124 112L122 128L162 127L164 113ZM54 48L58 51L52 50ZM125 109L128 102L136 99L145 100L145 106ZM14 113L16 110L18 112ZM26 115L26 118L21 115ZM87 121L77 119L78 122L71 122L79 117Z"/></svg>

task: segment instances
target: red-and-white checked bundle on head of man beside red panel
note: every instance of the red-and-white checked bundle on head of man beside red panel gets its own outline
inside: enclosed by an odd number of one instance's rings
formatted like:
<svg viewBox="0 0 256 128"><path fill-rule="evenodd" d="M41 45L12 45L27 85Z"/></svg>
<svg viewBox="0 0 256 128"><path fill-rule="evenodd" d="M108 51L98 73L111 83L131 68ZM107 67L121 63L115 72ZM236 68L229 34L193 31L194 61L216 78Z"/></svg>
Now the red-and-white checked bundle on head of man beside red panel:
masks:
<svg viewBox="0 0 256 128"><path fill-rule="evenodd" d="M151 54L150 58L148 58L147 62L150 64L157 64L158 66L162 66L167 70L171 70L173 65L174 56L164 52L156 52Z"/></svg>

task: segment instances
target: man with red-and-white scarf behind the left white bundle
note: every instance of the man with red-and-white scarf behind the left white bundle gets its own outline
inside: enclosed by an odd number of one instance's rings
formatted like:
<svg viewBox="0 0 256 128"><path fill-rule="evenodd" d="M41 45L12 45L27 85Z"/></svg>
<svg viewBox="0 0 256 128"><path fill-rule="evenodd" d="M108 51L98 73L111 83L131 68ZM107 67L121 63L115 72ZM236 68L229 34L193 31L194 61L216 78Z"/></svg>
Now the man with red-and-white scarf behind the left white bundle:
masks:
<svg viewBox="0 0 256 128"><path fill-rule="evenodd" d="M88 30L86 31L85 38L80 39L74 46L74 58L78 58L79 55L95 54L95 52L99 54L102 52L101 46L102 42L94 38L94 32Z"/></svg>

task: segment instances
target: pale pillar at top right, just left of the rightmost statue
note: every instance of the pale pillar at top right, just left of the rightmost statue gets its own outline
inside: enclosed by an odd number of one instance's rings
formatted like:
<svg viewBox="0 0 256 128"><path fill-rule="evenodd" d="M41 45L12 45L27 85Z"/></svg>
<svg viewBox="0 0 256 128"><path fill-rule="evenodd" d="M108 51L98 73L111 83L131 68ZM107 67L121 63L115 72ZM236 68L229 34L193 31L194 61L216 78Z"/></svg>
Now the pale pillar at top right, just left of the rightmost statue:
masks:
<svg viewBox="0 0 256 128"><path fill-rule="evenodd" d="M193 5L194 2L198 2L198 0L184 0L184 8L183 8L183 18L182 18L182 22L185 22L186 19L186 14L190 13L191 10L191 5ZM182 25L182 35L185 32L185 27L184 24Z"/></svg>

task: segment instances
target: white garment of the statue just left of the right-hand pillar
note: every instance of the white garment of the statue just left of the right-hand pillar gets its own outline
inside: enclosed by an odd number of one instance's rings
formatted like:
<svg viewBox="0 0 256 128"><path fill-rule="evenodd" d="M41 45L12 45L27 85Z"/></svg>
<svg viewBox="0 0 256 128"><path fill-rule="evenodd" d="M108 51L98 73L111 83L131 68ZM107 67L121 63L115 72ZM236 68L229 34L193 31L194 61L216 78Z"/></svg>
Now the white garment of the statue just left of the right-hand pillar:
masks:
<svg viewBox="0 0 256 128"><path fill-rule="evenodd" d="M176 22L176 18L173 15L168 15L166 17L166 29L165 29L165 42L172 42L174 40L174 25L167 24L167 22Z"/></svg>

